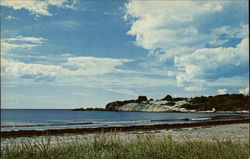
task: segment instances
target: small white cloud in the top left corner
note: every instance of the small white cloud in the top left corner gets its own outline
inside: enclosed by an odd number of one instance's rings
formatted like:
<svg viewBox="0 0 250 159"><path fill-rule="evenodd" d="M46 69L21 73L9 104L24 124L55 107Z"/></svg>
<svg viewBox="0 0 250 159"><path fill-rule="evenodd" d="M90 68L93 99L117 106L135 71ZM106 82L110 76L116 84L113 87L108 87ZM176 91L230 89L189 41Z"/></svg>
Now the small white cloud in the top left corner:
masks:
<svg viewBox="0 0 250 159"><path fill-rule="evenodd" d="M73 8L77 0L2 0L1 5L10 7L14 10L26 9L35 15L51 16L50 6L59 8Z"/></svg>

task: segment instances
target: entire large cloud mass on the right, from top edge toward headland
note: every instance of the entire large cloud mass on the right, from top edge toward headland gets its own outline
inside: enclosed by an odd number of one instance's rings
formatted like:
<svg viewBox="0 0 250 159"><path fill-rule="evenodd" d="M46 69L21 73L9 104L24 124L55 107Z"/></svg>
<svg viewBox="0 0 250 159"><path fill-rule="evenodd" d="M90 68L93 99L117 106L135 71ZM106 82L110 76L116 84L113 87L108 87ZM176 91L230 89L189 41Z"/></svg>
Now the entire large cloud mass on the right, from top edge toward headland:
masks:
<svg viewBox="0 0 250 159"><path fill-rule="evenodd" d="M216 81L226 76L218 70L247 68L249 25L243 21L236 25L211 21L215 15L229 20L225 14L230 11L228 8L245 4L129 1L124 19L131 23L127 34L135 37L135 45L148 50L159 62L166 62L170 66L166 67L170 68L168 71L176 71L177 86L186 91L200 91L204 85L211 86L211 78Z"/></svg>

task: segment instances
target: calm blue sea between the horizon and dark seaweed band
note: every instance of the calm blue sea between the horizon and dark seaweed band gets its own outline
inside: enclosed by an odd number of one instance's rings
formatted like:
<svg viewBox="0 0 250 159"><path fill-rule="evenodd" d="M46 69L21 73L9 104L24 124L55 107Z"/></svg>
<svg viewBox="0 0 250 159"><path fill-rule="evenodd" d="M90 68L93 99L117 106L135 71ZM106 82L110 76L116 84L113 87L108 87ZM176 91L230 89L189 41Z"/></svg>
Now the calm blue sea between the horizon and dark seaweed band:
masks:
<svg viewBox="0 0 250 159"><path fill-rule="evenodd" d="M199 114L72 111L69 109L1 109L1 131L186 123L197 122L196 119L206 120L207 118L221 115L222 114L216 113ZM223 116L228 116L230 118L232 114L223 114ZM248 117L247 114L240 114L240 116ZM228 120L228 118L217 120Z"/></svg>

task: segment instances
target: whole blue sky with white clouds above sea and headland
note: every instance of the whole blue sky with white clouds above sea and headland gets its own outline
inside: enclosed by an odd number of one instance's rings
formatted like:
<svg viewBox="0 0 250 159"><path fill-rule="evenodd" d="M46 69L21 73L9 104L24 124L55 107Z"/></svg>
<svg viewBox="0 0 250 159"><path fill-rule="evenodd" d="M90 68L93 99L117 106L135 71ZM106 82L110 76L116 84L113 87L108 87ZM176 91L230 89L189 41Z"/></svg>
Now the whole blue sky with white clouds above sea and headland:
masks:
<svg viewBox="0 0 250 159"><path fill-rule="evenodd" d="M238 1L2 0L1 108L249 94Z"/></svg>

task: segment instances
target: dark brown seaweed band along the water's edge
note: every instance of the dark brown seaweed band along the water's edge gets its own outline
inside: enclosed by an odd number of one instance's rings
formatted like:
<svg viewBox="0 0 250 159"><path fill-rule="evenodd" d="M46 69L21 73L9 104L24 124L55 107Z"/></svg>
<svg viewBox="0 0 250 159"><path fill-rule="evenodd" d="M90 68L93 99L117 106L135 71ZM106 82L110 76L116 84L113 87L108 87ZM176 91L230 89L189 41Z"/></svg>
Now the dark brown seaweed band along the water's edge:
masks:
<svg viewBox="0 0 250 159"><path fill-rule="evenodd" d="M1 131L1 139L13 138L13 137L53 136L53 135L64 135L64 134L74 135L74 134L108 133L108 132L112 133L112 132L151 131L151 130L192 128L192 127L239 124L239 123L250 123L250 120L249 119L237 119L237 120L226 120L226 121L202 121L202 122L195 122L195 123L179 123L179 124Z"/></svg>

